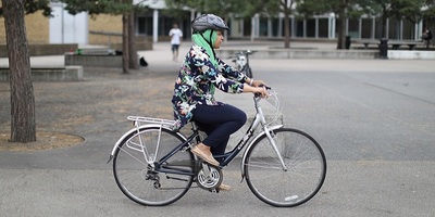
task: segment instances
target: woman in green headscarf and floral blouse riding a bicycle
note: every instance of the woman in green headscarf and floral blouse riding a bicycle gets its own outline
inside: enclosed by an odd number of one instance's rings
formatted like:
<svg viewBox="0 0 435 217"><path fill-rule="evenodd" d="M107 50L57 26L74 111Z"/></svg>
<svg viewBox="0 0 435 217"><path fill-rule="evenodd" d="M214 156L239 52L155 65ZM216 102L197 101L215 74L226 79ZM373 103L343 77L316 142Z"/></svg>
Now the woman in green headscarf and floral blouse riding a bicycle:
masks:
<svg viewBox="0 0 435 217"><path fill-rule="evenodd" d="M191 149L204 162L219 166L213 155L222 155L229 136L247 120L246 114L229 104L214 99L215 88L228 93L268 91L260 87L262 80L253 80L215 56L214 49L224 40L223 31L228 30L224 21L213 14L203 14L191 22L192 46L185 56L175 82L172 103L175 129L188 122L195 122L208 137ZM221 184L221 190L229 190Z"/></svg>

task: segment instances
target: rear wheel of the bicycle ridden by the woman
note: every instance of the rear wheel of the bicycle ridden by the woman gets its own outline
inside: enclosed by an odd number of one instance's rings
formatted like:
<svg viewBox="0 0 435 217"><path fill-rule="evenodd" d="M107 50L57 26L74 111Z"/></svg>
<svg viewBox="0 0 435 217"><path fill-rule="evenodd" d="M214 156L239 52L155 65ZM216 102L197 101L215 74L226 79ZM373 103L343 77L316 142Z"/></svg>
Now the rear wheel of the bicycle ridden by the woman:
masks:
<svg viewBox="0 0 435 217"><path fill-rule="evenodd" d="M189 190L194 177L186 175L162 174L153 169L145 159L140 141L150 153L156 153L160 127L141 128L129 133L119 145L113 157L113 175L117 187L132 201L148 206L163 206L179 200ZM172 151L185 140L177 133L162 128L157 159ZM189 151L178 151L167 159L170 162L195 162ZM172 166L174 167L174 166ZM192 171L191 164L176 165L176 168Z"/></svg>

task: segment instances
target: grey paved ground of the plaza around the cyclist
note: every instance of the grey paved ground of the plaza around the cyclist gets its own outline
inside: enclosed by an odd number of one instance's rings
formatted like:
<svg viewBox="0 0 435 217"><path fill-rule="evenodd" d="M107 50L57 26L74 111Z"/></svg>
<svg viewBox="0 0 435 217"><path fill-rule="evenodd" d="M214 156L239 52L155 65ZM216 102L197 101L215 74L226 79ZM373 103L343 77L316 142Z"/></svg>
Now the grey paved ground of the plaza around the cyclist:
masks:
<svg viewBox="0 0 435 217"><path fill-rule="evenodd" d="M254 44L228 43L254 48ZM262 48L271 46L259 44ZM274 44L272 44L274 46ZM298 44L306 47L308 44ZM224 46L225 47L225 46ZM334 44L322 44L332 49ZM182 47L184 54L187 44ZM105 164L127 115L171 118L179 67L170 47L140 52L149 67L86 68L83 82L35 82L37 128L82 136L76 146L0 152L2 216L433 216L435 213L435 62L253 60L256 78L285 94L285 124L316 138L328 159L321 192L295 208L263 204L224 169L234 191L190 190L165 207L144 207L117 189ZM33 58L63 64L62 56ZM5 60L0 60L4 64ZM250 97L217 95L250 110ZM9 84L0 82L0 133L9 129Z"/></svg>

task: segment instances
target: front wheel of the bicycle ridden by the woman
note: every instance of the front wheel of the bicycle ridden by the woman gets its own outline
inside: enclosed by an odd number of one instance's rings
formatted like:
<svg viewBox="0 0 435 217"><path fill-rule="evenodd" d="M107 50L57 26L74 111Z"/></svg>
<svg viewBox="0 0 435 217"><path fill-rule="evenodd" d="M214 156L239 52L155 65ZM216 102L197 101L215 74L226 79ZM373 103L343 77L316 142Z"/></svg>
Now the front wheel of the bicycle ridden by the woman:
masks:
<svg viewBox="0 0 435 217"><path fill-rule="evenodd" d="M281 207L306 203L321 189L326 158L319 143L303 131L271 131L285 167L264 135L248 150L244 168L249 189L261 201Z"/></svg>

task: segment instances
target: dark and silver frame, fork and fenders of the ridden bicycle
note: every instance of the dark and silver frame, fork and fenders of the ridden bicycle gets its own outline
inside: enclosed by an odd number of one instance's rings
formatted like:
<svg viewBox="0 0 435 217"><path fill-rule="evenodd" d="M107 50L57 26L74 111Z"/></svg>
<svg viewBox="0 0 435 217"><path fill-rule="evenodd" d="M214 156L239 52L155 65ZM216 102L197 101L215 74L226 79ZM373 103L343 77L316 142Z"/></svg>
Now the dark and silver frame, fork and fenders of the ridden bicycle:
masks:
<svg viewBox="0 0 435 217"><path fill-rule="evenodd" d="M252 144L257 141L258 138L260 138L263 135L266 135L266 137L269 138L269 140L271 141L271 144L274 149L274 151L276 152L279 162L282 163L283 166L283 170L286 170L286 166L284 163L284 159L282 158L279 151L276 148L275 141L272 138L271 131L275 130L275 129L279 129L282 127L284 127L283 125L275 125L275 126L268 126L266 120L264 118L264 114L263 111L260 106L260 100L261 98L256 95L253 97L253 101L254 101L254 107L256 107L256 116L253 118L253 122L250 124L248 130L246 131L245 136L239 140L239 142L237 143L237 145L235 148L233 148L233 150L226 152L223 155L219 155L215 157L223 157L223 162L221 163L220 167L225 167L226 165L228 165L239 153L240 151L248 144L248 142L250 141L250 139L252 138L256 129L259 127L259 125L262 125L262 131L256 136L256 138L253 138L248 148L245 150L245 153L243 155L243 162L245 162L246 155L248 153L248 151L250 150L250 148L252 146ZM140 117L135 117L135 118L140 118ZM130 119L130 118L129 118ZM136 119L135 122L140 122L139 119ZM167 127L167 125L171 124L171 120L167 120L169 123L160 123L160 124L146 124L146 125L138 125L136 123L136 128L130 129L129 131L127 131L123 137L120 138L120 140L115 143L111 155L110 155L110 159L109 162L112 159L116 149L119 148L119 145L125 141L126 137L135 131L139 132L141 129L145 128L149 128L149 127L154 127L154 128L160 128L160 132L162 130L162 128L166 129L166 130L171 130L170 127ZM147 157L147 155L149 155L148 151L145 150L145 145L140 144L141 150L137 149L137 151L141 151L144 152L145 155L145 159L147 161L147 163L156 169L156 171L161 171L161 173L167 173L167 174L178 174L178 175L188 175L188 176L195 176L195 174L192 174L189 170L184 170L181 169L179 167L177 168L172 168L171 165L165 164L165 162L167 159L170 159L173 155L175 155L177 152L179 151L187 151L189 148L191 148L192 143L198 143L200 142L200 138L199 138L199 129L196 126L195 123L192 123L192 133L189 137L185 137L183 133L181 132L176 132L181 138L183 138L184 142L178 144L176 148L174 148L170 153L167 153L166 155L164 155L163 157L161 157L159 161L156 159L150 159L150 157ZM194 139L196 139L196 142L192 142ZM159 144L158 144L159 145ZM157 153L154 154L154 156L157 156ZM109 163L108 162L108 163ZM196 169L194 170L196 171ZM241 176L245 177L245 169L241 165Z"/></svg>

